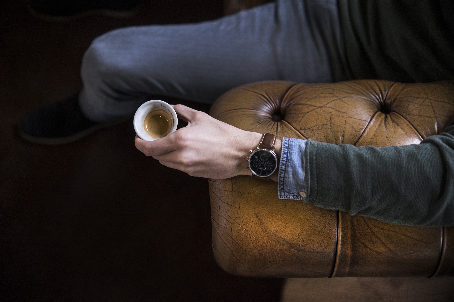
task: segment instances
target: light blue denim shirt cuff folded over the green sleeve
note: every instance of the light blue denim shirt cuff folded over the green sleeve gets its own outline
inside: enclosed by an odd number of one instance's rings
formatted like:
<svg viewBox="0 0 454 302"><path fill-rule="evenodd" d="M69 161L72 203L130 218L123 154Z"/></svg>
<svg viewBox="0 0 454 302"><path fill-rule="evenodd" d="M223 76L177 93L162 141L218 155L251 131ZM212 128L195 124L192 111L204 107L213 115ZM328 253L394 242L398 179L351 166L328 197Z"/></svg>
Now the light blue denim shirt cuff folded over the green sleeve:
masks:
<svg viewBox="0 0 454 302"><path fill-rule="evenodd" d="M278 196L281 199L306 198L305 158L306 140L282 139L281 162L277 180Z"/></svg>

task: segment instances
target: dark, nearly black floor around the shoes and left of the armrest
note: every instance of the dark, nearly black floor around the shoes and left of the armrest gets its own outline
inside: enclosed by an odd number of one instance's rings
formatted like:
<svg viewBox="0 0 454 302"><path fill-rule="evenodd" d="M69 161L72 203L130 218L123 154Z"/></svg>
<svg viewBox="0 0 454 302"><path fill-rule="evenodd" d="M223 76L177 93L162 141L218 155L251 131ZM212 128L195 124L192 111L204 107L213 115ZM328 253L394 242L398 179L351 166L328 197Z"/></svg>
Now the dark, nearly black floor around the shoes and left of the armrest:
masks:
<svg viewBox="0 0 454 302"><path fill-rule="evenodd" d="M127 19L49 22L26 0L0 0L1 301L279 300L282 279L215 264L207 179L145 157L132 119L61 146L28 143L16 130L28 111L80 90L96 36L220 16L222 0L147 0Z"/></svg>

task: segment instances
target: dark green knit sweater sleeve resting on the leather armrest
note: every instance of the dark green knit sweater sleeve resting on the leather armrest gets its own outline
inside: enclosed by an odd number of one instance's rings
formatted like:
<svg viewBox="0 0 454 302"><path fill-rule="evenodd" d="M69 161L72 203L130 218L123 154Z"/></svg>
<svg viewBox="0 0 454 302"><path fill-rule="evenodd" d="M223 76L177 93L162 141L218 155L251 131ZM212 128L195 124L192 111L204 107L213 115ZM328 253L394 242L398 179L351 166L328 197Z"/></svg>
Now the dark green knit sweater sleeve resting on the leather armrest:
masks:
<svg viewBox="0 0 454 302"><path fill-rule="evenodd" d="M306 202L404 225L454 225L454 120L406 146L308 140Z"/></svg>

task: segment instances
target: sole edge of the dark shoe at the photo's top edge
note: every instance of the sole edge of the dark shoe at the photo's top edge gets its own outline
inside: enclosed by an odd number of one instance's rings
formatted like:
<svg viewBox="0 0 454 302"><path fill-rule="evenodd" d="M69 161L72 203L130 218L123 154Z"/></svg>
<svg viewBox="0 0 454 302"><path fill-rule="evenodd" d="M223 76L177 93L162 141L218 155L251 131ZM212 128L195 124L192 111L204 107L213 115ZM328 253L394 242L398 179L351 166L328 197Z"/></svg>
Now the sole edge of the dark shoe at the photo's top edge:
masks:
<svg viewBox="0 0 454 302"><path fill-rule="evenodd" d="M142 1L141 1L142 2ZM125 11L118 11L118 10L87 10L79 14L75 14L72 16L50 16L47 14L42 14L37 12L33 9L30 4L30 1L27 1L27 7L30 14L34 15L36 18L44 20L44 21L53 21L53 22L67 22L67 21L74 21L76 19L91 16L91 15L103 15L106 17L113 17L113 18L129 18L136 14L139 9L140 5L142 4L139 2L136 8L133 10L125 10Z"/></svg>

